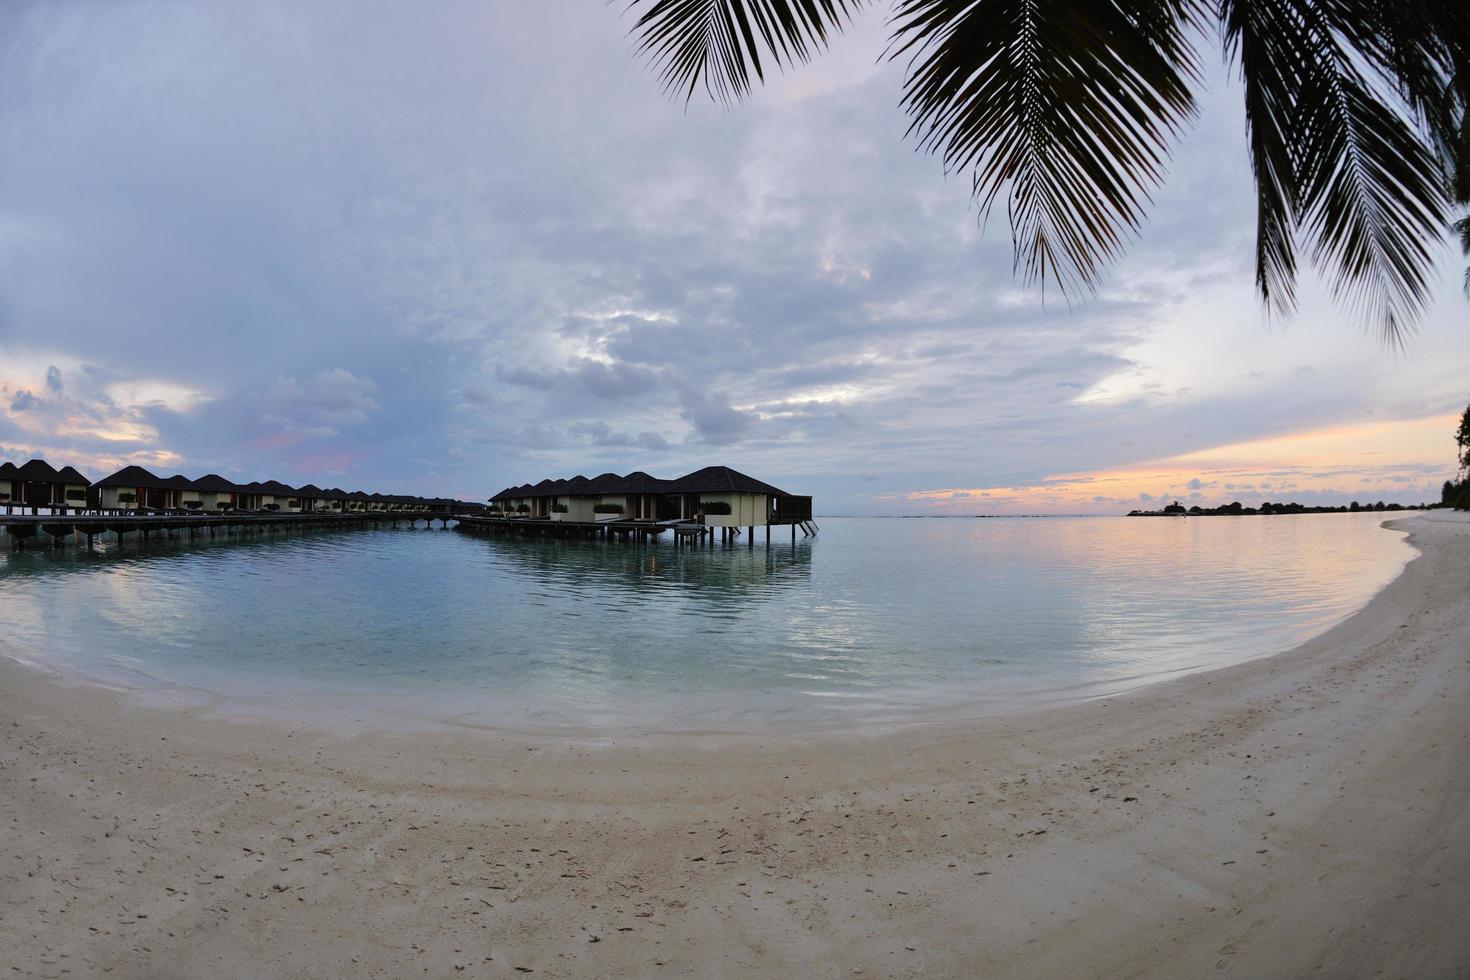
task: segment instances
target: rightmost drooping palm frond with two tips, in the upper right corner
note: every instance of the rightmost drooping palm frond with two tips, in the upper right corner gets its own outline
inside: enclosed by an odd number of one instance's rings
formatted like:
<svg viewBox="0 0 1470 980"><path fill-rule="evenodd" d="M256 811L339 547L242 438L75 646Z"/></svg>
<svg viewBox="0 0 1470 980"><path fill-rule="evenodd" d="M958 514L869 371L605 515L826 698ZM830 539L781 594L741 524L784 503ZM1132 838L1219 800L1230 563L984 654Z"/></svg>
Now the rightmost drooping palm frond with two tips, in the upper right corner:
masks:
<svg viewBox="0 0 1470 980"><path fill-rule="evenodd" d="M1380 0L1223 0L1220 13L1245 88L1263 298L1292 309L1302 239L1333 291L1401 344L1446 220L1444 131L1426 113L1444 110L1457 46Z"/></svg>

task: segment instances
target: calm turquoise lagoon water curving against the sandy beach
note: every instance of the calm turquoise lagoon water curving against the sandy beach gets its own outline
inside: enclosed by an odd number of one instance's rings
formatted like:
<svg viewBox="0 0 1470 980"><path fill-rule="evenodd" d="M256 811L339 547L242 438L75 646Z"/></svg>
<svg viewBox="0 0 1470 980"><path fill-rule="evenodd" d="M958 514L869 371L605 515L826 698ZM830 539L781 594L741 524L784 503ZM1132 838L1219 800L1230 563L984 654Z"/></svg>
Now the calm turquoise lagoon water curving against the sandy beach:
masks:
<svg viewBox="0 0 1470 980"><path fill-rule="evenodd" d="M0 654L365 723L973 716L1294 646L1411 557L1379 520L823 519L769 550L440 529L28 550L0 558Z"/></svg>

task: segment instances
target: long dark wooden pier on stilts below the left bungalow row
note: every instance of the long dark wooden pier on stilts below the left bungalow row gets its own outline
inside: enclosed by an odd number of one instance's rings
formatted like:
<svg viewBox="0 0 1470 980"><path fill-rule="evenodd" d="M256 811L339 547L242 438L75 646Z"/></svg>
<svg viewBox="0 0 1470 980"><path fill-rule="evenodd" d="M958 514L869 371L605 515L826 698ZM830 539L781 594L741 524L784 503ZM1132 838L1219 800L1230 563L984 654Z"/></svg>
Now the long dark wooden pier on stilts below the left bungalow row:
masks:
<svg viewBox="0 0 1470 980"><path fill-rule="evenodd" d="M68 539L85 542L93 547L94 539L103 533L137 535L135 541L147 544L153 535L165 539L173 535L187 535L190 539L198 535L216 533L270 533L279 530L323 530L332 527L398 527L416 526L423 522L432 527L440 522L448 527L453 514L428 514L423 511L350 511L350 513L307 513L307 514L275 514L275 513L245 513L226 511L216 514L134 514L134 513L78 513L78 514L0 514L0 529L10 536L13 548L24 548L26 542L44 535L51 545L60 547Z"/></svg>

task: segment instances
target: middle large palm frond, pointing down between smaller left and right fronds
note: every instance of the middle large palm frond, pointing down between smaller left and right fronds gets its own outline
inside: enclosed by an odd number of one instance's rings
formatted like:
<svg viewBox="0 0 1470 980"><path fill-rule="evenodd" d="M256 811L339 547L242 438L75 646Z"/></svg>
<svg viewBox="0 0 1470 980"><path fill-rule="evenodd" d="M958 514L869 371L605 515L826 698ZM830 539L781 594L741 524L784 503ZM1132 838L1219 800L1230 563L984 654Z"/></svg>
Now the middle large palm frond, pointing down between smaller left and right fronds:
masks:
<svg viewBox="0 0 1470 980"><path fill-rule="evenodd" d="M1191 0L900 0L910 134L970 170L982 215L1005 194L1029 282L1097 287L1138 231L1195 113Z"/></svg>

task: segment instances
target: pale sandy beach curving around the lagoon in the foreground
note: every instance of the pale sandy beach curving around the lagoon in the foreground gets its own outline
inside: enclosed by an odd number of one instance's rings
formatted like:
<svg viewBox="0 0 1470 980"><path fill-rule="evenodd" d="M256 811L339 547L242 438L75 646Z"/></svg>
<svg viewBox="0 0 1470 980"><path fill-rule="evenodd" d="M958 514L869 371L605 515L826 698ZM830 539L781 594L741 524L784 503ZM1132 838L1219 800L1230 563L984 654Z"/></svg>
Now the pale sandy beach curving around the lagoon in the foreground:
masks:
<svg viewBox="0 0 1470 980"><path fill-rule="evenodd" d="M1395 523L1420 555L1291 651L878 735L343 735L0 663L0 949L15 976L1463 976L1470 525Z"/></svg>

